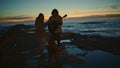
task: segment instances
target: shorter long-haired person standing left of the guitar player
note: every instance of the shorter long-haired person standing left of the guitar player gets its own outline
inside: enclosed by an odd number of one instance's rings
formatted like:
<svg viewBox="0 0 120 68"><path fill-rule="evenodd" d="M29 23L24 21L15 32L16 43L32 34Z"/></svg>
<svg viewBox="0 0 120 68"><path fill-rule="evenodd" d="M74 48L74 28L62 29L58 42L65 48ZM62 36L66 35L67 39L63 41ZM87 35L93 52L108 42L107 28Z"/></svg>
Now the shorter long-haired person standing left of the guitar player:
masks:
<svg viewBox="0 0 120 68"><path fill-rule="evenodd" d="M40 49L37 50L38 53L42 54L44 49L46 48L46 31L45 31L45 23L44 23L44 15L42 13L35 20L35 27L38 36L38 40L40 42Z"/></svg>

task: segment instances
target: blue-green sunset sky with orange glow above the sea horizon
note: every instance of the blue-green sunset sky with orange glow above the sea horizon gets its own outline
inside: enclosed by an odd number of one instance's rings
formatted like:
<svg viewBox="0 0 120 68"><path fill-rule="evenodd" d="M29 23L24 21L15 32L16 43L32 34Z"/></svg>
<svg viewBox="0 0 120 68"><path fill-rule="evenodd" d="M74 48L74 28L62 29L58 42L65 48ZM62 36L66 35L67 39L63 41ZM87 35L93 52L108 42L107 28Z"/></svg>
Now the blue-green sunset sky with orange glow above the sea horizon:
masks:
<svg viewBox="0 0 120 68"><path fill-rule="evenodd" d="M1 0L0 23L34 21L39 13L47 20L53 9L67 21L120 19L120 0Z"/></svg>

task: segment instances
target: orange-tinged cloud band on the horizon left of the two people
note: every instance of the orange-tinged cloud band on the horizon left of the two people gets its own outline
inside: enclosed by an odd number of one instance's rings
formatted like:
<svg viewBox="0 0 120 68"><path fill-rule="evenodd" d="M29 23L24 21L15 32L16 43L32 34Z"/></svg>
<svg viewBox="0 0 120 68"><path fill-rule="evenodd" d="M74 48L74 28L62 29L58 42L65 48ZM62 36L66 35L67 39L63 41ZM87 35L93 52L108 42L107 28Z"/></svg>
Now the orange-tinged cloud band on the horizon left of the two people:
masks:
<svg viewBox="0 0 120 68"><path fill-rule="evenodd" d="M33 20L34 20L33 17L20 15L20 16L14 16L14 17L0 18L0 23L27 22L27 21L33 21Z"/></svg>

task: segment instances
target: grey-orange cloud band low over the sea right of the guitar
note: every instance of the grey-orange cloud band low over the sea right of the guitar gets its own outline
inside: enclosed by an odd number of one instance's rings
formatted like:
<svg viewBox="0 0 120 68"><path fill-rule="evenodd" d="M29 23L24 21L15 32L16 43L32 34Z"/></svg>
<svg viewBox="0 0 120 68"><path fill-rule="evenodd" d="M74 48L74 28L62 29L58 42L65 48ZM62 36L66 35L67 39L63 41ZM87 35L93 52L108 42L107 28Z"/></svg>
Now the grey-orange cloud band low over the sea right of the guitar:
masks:
<svg viewBox="0 0 120 68"><path fill-rule="evenodd" d="M120 14L91 15L84 17L68 18L66 21L90 21L90 20L120 20Z"/></svg>

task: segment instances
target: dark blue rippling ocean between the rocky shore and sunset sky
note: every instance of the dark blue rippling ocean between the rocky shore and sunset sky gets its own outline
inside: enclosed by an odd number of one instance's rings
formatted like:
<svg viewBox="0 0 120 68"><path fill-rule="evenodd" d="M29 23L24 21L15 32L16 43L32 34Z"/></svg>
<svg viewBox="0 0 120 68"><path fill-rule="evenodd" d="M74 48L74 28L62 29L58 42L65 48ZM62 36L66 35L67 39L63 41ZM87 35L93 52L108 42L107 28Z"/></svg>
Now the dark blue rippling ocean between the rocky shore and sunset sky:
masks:
<svg viewBox="0 0 120 68"><path fill-rule="evenodd" d="M0 36L16 24L25 24L35 28L34 22L0 24ZM47 28L46 28L47 30ZM100 35L103 37L120 37L120 20L92 22L64 22L63 32L74 32L82 35Z"/></svg>

